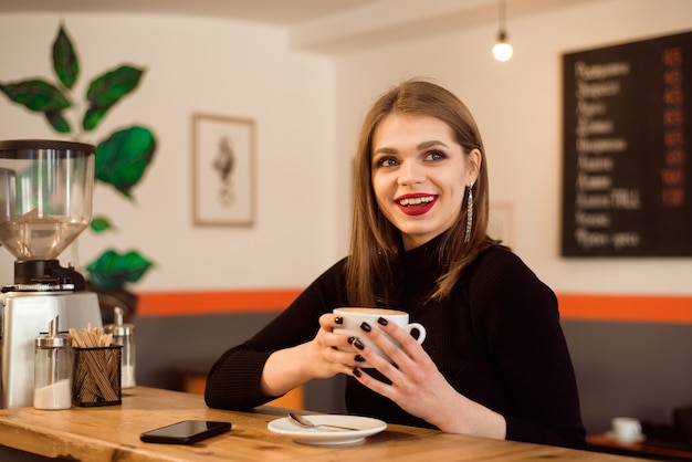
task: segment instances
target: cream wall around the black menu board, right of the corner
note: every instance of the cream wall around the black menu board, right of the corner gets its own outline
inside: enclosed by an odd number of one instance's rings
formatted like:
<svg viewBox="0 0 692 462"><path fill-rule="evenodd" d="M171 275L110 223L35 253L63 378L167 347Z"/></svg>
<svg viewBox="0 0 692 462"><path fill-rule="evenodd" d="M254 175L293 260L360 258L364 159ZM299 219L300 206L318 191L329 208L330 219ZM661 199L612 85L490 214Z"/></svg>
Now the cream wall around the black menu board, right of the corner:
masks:
<svg viewBox="0 0 692 462"><path fill-rule="evenodd" d="M514 56L506 63L491 54L495 23L343 55L335 73L339 171L347 170L359 119L376 95L402 78L430 76L474 114L487 150L491 202L513 206L510 243L556 292L690 294L689 258L559 255L562 54L690 30L689 0L599 0L510 15Z"/></svg>

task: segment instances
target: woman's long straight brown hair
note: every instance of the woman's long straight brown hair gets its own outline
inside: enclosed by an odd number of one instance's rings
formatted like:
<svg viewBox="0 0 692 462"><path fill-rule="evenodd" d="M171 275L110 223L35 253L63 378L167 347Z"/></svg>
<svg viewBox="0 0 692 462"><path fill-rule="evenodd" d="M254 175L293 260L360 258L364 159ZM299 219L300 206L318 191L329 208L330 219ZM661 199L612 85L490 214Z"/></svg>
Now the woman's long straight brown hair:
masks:
<svg viewBox="0 0 692 462"><path fill-rule="evenodd" d="M449 295L463 269L494 243L486 234L489 217L487 162L483 140L466 106L448 90L423 80L406 81L381 95L365 117L356 155L354 217L350 253L346 265L348 301L356 306L387 305L391 265L398 260L401 233L377 207L371 181L373 134L380 120L391 113L432 116L449 125L455 140L468 156L481 153L478 178L473 183L473 224L466 233L468 201L440 248L444 270L429 300ZM461 181L461 179L460 179Z"/></svg>

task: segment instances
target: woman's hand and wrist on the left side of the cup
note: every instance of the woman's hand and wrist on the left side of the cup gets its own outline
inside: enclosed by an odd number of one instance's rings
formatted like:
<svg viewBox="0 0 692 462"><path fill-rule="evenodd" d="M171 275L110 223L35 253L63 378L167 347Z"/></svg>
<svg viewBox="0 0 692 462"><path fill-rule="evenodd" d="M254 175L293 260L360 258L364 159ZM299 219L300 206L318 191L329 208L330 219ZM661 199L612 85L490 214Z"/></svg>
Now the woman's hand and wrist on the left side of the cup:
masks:
<svg viewBox="0 0 692 462"><path fill-rule="evenodd" d="M280 396L315 378L329 378L337 374L350 375L358 365L348 348L349 337L334 334L334 328L343 324L338 316L327 313L319 316L319 329L312 340L292 348L274 351L262 372L262 391L269 396Z"/></svg>

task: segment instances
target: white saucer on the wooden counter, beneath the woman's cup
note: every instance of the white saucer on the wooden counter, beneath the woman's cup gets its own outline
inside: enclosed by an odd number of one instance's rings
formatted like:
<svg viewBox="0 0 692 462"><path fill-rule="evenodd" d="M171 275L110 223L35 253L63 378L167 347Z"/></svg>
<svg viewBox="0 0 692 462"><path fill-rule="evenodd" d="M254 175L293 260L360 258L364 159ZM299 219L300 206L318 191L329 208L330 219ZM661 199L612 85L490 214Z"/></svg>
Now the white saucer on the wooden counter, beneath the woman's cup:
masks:
<svg viewBox="0 0 692 462"><path fill-rule="evenodd" d="M357 443L387 428L387 423L369 417L340 414L310 414L306 417L315 424L350 427L358 430L337 430L326 427L306 429L294 423L287 417L272 420L266 428L274 433L285 434L293 438L294 441L305 444Z"/></svg>

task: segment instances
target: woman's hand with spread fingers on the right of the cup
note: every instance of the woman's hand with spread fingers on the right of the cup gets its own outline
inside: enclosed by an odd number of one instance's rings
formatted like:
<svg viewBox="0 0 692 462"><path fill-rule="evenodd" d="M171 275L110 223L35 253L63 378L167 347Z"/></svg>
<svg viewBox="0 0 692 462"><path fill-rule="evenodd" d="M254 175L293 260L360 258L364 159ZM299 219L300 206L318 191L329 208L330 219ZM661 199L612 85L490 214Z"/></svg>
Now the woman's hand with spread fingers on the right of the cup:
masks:
<svg viewBox="0 0 692 462"><path fill-rule="evenodd" d="M354 342L353 345L365 360L391 381L391 385L370 377L360 368L355 368L350 375L360 384L442 431L505 438L504 418L457 392L422 346L408 332L394 323L387 323L384 318L378 319L377 327L397 340L401 347L399 348L375 326L361 326L363 336L377 345L394 365L360 340Z"/></svg>

